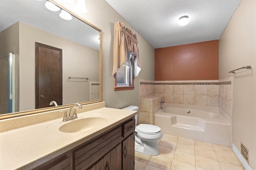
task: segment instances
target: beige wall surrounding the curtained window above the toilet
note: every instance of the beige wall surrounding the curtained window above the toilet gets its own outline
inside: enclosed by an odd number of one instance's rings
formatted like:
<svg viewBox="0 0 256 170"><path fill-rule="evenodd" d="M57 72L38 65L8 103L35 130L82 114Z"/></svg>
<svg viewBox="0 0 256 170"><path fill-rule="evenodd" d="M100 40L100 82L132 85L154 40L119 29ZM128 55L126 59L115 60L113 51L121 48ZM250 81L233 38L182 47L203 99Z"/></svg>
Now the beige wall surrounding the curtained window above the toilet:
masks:
<svg viewBox="0 0 256 170"><path fill-rule="evenodd" d="M61 3L61 1L60 1ZM65 6L64 4L62 4ZM74 12L74 6L65 6ZM129 105L138 106L139 79L154 80L154 48L140 36L105 0L86 0L87 14L79 15L102 30L102 58L103 58L103 100L106 107L123 108ZM74 12L75 13L75 12ZM134 90L113 90L113 39L114 23L120 21L130 28L138 37L140 61L142 70L135 78Z"/></svg>

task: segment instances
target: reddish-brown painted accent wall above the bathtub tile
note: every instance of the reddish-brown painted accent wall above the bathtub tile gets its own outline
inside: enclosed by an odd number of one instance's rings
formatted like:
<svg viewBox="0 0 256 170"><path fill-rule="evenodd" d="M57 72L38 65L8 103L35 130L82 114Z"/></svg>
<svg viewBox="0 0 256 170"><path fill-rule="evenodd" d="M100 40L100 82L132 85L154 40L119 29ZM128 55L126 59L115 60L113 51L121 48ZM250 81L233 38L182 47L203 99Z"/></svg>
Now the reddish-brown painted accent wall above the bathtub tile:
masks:
<svg viewBox="0 0 256 170"><path fill-rule="evenodd" d="M155 80L218 80L219 40L155 49Z"/></svg>

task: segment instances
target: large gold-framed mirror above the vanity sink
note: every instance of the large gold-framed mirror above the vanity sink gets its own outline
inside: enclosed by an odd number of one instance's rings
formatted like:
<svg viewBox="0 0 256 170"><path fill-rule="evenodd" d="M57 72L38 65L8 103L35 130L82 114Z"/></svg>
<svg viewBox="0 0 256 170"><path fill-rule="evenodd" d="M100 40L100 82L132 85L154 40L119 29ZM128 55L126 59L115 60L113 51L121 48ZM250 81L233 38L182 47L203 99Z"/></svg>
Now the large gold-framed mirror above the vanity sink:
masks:
<svg viewBox="0 0 256 170"><path fill-rule="evenodd" d="M102 101L102 31L46 2L0 1L0 119Z"/></svg>

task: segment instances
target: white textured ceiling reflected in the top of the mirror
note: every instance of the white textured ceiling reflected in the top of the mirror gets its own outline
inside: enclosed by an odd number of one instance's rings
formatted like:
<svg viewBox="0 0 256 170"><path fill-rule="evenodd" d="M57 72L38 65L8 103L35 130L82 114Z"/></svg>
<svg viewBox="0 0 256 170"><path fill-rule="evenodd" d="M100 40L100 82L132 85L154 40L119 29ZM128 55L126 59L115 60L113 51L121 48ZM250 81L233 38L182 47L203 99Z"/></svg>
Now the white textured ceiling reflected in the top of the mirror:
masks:
<svg viewBox="0 0 256 170"><path fill-rule="evenodd" d="M46 0L0 0L0 32L21 21L76 43L99 50L100 32L73 16L67 21L45 7Z"/></svg>

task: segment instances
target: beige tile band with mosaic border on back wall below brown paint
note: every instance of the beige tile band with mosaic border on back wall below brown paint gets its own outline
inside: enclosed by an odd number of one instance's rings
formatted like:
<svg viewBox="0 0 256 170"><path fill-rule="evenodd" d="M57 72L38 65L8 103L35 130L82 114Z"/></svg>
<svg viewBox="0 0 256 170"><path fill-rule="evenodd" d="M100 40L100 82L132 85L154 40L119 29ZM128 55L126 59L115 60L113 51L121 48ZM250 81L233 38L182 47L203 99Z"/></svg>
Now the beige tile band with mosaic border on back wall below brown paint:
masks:
<svg viewBox="0 0 256 170"><path fill-rule="evenodd" d="M155 81L155 94L163 94L166 103L199 106L219 105L218 80Z"/></svg>

